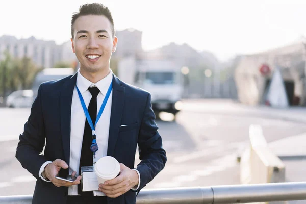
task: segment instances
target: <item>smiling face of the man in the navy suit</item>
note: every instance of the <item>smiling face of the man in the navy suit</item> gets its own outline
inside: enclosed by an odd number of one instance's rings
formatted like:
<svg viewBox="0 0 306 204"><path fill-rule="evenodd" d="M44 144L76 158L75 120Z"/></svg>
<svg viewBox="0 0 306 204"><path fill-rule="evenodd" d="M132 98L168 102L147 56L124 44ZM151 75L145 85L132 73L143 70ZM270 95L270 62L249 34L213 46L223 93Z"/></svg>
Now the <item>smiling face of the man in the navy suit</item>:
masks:
<svg viewBox="0 0 306 204"><path fill-rule="evenodd" d="M80 16L74 22L73 53L80 68L87 72L99 72L109 68L117 37L112 37L112 24L105 16Z"/></svg>

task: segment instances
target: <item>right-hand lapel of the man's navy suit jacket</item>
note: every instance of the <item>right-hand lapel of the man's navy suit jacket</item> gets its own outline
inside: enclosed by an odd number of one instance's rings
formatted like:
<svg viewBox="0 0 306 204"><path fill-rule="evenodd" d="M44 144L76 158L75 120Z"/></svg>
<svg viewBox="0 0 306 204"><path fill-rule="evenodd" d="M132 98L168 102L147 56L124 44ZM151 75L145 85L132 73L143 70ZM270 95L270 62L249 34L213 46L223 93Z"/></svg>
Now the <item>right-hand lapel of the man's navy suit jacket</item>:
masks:
<svg viewBox="0 0 306 204"><path fill-rule="evenodd" d="M109 141L107 155L113 156L115 145L118 138L119 126L123 113L125 98L125 88L121 86L121 81L113 75L113 96L112 96L112 111L110 120Z"/></svg>

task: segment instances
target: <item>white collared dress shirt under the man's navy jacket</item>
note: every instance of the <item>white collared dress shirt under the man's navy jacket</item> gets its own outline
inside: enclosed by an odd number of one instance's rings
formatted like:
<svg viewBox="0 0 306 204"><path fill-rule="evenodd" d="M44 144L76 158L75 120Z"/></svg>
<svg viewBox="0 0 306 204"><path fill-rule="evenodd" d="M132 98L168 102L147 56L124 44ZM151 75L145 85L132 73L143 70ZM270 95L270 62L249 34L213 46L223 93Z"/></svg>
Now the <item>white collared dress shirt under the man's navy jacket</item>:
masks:
<svg viewBox="0 0 306 204"><path fill-rule="evenodd" d="M110 73L97 83L92 83L87 80L78 70L77 76L77 86L83 96L86 107L89 106L89 102L91 99L91 93L88 90L88 87L98 87L100 90L97 96L97 113L100 110L101 104L105 98L105 95L108 91L108 88L113 80L113 72L110 69ZM96 152L94 161L97 161L101 157L107 156L107 147L108 147L108 139L109 139L109 128L110 128L110 118L111 118L111 108L112 108L112 95L113 91L111 91L110 97L107 101L105 109L96 124L95 132L96 132L96 142L99 146L99 150ZM83 142L83 134L84 134L84 126L85 126L86 116L84 110L82 108L80 98L78 95L77 88L74 87L73 95L72 95L72 104L71 104L71 132L70 132L70 165L69 165L69 174L72 174L73 171L79 174L79 165L81 158L81 149ZM119 128L119 127L118 127ZM51 163L50 161L45 162L39 171L40 177L41 173L44 170L44 167ZM135 169L133 169L135 170ZM140 185L140 173L138 170L135 170L138 174L139 183L137 188L133 188L134 190L139 188ZM43 179L46 181L45 179ZM72 185L68 188L68 195L78 195L78 185ZM94 196L105 196L103 192L93 191Z"/></svg>

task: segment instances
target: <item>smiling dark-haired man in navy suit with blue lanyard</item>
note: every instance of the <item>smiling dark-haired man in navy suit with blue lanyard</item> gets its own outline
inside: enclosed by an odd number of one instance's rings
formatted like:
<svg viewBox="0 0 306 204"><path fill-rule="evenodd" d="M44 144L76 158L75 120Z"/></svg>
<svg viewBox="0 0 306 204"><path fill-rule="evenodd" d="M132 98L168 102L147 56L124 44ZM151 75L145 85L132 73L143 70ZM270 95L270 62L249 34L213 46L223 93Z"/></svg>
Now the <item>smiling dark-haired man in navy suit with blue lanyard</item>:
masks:
<svg viewBox="0 0 306 204"><path fill-rule="evenodd" d="M72 15L71 36L80 69L40 85L17 146L16 158L37 179L33 203L136 203L136 192L167 160L150 94L110 69L118 39L107 7L82 5ZM134 168L137 145L141 162ZM81 167L104 156L118 160L120 174L83 191ZM69 174L76 179L55 177Z"/></svg>

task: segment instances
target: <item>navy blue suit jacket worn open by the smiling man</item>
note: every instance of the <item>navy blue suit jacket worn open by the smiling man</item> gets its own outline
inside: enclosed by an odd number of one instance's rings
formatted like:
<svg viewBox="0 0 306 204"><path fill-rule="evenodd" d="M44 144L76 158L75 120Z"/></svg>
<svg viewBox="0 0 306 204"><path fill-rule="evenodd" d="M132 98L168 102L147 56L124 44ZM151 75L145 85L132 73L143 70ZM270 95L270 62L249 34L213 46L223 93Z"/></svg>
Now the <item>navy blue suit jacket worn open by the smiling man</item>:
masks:
<svg viewBox="0 0 306 204"><path fill-rule="evenodd" d="M42 83L24 131L20 134L16 158L37 179L33 203L66 203L68 187L56 187L51 182L41 180L38 174L46 161L59 158L69 165L71 101L76 80L77 74L74 74L61 80ZM121 124L127 126L120 127ZM141 160L137 166L140 190L164 168L166 153L155 123L150 94L125 84L113 75L107 155L134 168L137 144ZM67 170L60 171L64 176L67 173ZM108 203L136 202L132 190L117 198L107 199Z"/></svg>

